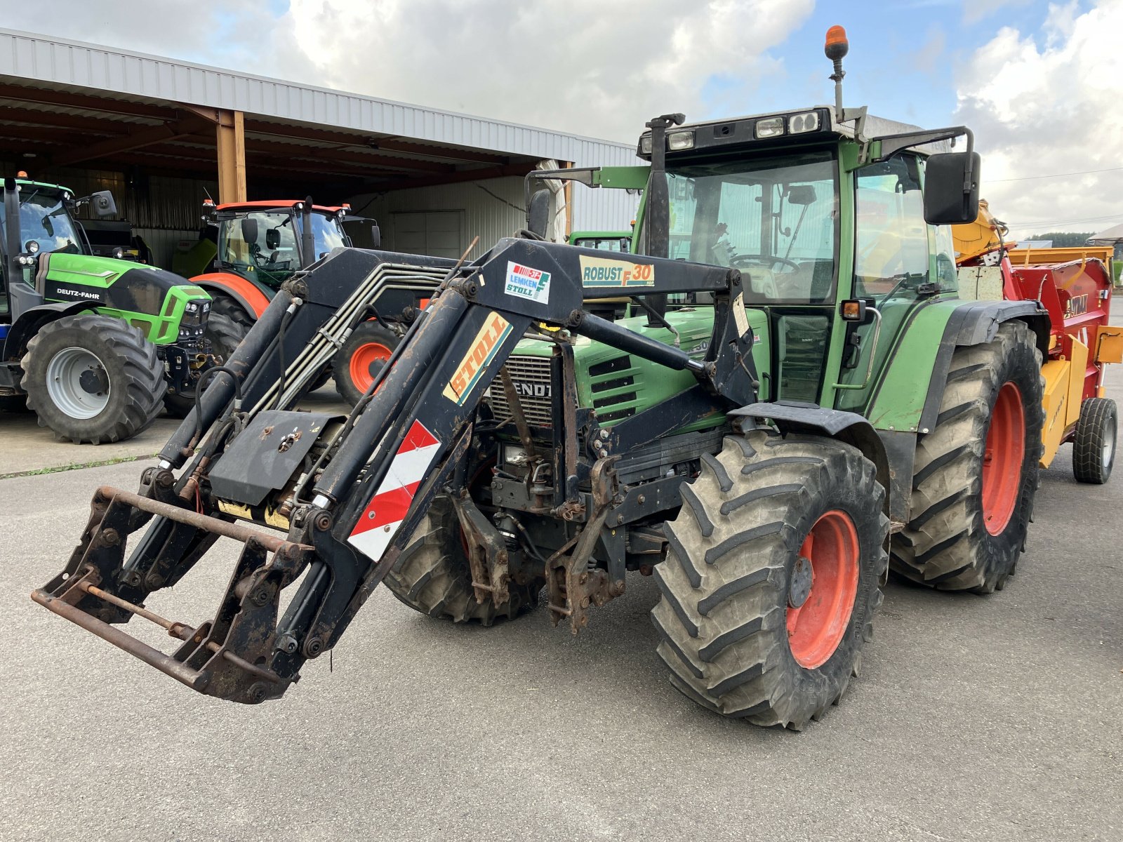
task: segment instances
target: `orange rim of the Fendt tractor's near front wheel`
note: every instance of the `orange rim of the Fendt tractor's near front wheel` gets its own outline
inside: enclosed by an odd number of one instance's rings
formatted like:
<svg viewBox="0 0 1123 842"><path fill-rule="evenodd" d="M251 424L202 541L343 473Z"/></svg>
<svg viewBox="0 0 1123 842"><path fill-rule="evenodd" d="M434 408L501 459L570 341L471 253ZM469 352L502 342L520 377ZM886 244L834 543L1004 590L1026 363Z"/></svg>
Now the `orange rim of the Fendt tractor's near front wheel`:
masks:
<svg viewBox="0 0 1123 842"><path fill-rule="evenodd" d="M811 591L787 608L787 644L804 669L824 665L842 642L858 596L859 553L858 530L838 509L815 521L800 547L811 561Z"/></svg>

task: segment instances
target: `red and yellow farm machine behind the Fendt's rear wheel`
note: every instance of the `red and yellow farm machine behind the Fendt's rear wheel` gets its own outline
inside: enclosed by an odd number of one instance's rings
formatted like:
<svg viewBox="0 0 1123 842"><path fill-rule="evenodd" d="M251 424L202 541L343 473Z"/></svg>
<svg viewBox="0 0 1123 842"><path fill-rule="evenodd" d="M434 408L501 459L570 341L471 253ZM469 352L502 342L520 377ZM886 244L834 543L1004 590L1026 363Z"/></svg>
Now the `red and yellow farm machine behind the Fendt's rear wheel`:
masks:
<svg viewBox="0 0 1123 842"><path fill-rule="evenodd" d="M980 301L1040 301L1049 311L1041 467L1067 441L1081 483L1105 483L1115 460L1117 411L1105 396L1104 365L1123 361L1123 328L1108 324L1112 249L1016 248L979 202L975 222L955 226L959 294Z"/></svg>

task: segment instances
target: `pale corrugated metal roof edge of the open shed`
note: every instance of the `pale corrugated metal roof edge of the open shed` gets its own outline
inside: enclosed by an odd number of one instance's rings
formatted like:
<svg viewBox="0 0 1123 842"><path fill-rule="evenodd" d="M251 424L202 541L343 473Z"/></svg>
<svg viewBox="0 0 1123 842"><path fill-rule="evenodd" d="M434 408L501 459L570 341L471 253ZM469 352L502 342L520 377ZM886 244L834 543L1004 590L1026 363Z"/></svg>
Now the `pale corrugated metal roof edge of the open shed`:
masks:
<svg viewBox="0 0 1123 842"><path fill-rule="evenodd" d="M11 29L0 29L0 75L577 164L603 163L632 148Z"/></svg>

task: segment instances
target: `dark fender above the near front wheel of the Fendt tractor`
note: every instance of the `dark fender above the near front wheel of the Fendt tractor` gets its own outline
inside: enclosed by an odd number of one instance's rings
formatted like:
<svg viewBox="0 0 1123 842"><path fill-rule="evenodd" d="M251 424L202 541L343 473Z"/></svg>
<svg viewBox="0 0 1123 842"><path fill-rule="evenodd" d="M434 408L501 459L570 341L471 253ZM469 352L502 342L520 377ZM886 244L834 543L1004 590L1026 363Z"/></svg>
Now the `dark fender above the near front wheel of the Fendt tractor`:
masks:
<svg viewBox="0 0 1123 842"><path fill-rule="evenodd" d="M889 463L889 451L882 441L877 430L857 412L831 410L812 403L777 402L750 403L729 413L731 418L765 419L776 424L783 433L802 432L812 436L844 441L858 448L862 456L874 463L877 468L877 482L885 488L885 513L893 519L893 512L900 507L896 497L900 492L894 488L892 477L895 466ZM907 504L907 495L902 504Z"/></svg>

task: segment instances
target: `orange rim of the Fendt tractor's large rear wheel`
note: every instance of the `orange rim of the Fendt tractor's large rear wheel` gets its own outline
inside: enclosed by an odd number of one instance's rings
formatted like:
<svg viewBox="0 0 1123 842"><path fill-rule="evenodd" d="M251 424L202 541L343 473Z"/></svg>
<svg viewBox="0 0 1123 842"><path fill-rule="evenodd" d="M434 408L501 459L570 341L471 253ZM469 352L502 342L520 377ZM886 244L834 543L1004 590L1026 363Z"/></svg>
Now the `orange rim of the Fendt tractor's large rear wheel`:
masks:
<svg viewBox="0 0 1123 842"><path fill-rule="evenodd" d="M993 536L1006 529L1014 514L1024 455L1022 393L1007 382L998 390L983 448L983 523Z"/></svg>

